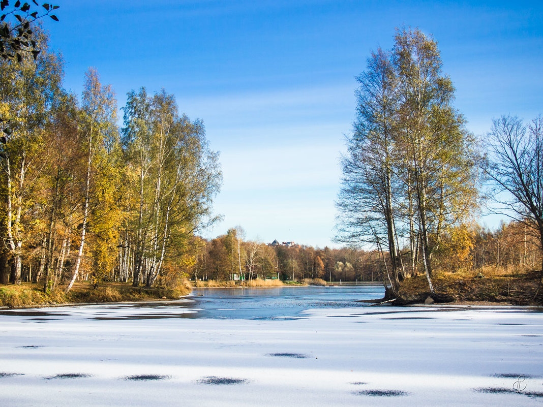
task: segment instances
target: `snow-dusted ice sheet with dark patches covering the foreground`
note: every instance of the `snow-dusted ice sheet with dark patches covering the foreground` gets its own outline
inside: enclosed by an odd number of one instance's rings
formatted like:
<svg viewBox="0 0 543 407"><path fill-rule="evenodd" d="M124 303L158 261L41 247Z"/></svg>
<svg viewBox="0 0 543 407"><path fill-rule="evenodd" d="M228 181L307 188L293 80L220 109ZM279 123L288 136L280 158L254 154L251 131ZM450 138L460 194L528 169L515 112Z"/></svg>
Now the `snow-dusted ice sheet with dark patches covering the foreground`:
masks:
<svg viewBox="0 0 543 407"><path fill-rule="evenodd" d="M0 406L543 403L543 314L527 309L194 313L123 304L0 315Z"/></svg>

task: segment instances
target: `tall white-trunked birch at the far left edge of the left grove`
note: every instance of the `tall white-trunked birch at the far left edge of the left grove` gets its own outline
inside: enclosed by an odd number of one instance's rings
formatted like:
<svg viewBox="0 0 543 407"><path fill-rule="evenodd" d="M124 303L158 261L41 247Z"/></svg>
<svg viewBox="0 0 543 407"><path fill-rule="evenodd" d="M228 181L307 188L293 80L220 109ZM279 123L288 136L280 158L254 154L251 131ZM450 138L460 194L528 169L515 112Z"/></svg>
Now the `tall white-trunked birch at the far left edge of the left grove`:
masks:
<svg viewBox="0 0 543 407"><path fill-rule="evenodd" d="M19 63L0 60L0 117L2 130L2 170L5 182L6 234L9 249L11 282L21 279L23 242L26 226L32 221L29 212L35 196L36 158L43 152L43 132L52 109L62 93L62 64L58 55L48 51L47 37L35 30L33 41L42 49L34 61L22 55Z"/></svg>

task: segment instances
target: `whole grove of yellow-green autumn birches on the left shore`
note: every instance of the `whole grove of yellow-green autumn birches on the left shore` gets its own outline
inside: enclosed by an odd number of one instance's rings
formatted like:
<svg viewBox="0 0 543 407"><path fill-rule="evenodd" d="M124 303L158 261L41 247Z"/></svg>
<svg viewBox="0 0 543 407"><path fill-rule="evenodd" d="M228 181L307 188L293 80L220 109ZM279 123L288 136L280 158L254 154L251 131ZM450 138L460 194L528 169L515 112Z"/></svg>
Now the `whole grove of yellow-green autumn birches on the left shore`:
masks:
<svg viewBox="0 0 543 407"><path fill-rule="evenodd" d="M96 69L78 100L39 27L33 41L35 59L0 60L0 282L175 284L195 233L216 220L222 175L203 123L165 90L141 88L119 126Z"/></svg>

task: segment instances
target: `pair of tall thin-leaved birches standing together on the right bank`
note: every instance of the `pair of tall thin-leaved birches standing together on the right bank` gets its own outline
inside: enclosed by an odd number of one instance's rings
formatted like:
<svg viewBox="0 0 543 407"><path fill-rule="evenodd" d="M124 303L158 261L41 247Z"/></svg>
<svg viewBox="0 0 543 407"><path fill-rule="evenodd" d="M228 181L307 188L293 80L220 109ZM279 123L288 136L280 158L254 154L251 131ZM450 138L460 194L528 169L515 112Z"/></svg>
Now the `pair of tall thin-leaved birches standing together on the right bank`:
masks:
<svg viewBox="0 0 543 407"><path fill-rule="evenodd" d="M434 292L433 251L446 228L477 206L477 144L452 106L454 87L441 67L437 42L418 29L402 29L392 52L372 53L358 78L338 240L374 245L394 295L406 275L398 230L408 234L412 273L420 247Z"/></svg>

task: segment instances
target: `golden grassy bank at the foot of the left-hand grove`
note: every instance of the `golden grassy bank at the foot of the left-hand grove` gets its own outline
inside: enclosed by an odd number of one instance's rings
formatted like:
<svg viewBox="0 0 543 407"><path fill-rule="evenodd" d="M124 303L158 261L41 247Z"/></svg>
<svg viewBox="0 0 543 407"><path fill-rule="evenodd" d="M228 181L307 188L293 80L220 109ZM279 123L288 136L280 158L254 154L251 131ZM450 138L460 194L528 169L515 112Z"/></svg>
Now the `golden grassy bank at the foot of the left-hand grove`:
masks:
<svg viewBox="0 0 543 407"><path fill-rule="evenodd" d="M119 301L150 301L177 299L191 291L190 284L183 284L176 289L135 288L127 283L102 283L96 289L91 284L74 284L66 294L56 290L46 294L40 285L22 283L19 285L0 285L0 307L32 307L56 304L101 303Z"/></svg>

